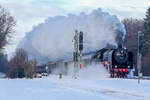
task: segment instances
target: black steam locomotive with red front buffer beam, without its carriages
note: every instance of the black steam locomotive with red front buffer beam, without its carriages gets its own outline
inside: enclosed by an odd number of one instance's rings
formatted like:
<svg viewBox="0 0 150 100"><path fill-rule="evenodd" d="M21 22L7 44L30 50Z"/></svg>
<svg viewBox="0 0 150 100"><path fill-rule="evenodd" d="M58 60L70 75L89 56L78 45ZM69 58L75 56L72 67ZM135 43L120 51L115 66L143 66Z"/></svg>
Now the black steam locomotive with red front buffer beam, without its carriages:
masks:
<svg viewBox="0 0 150 100"><path fill-rule="evenodd" d="M103 64L110 77L127 77L133 69L133 53L121 45L116 49L103 48L92 57L97 63Z"/></svg>

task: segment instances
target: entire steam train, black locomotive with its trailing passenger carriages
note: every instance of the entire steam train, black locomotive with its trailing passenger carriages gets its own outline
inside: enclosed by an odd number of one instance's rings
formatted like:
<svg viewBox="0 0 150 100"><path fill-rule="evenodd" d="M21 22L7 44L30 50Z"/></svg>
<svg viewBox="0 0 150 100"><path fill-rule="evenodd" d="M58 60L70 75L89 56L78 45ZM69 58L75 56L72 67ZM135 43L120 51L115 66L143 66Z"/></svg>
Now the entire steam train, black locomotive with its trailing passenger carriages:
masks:
<svg viewBox="0 0 150 100"><path fill-rule="evenodd" d="M134 56L131 51L119 45L117 48L105 47L95 52L83 54L82 67L90 64L103 64L110 77L127 77L133 69ZM50 61L44 65L38 66L37 73L63 74L69 75L73 67L73 58ZM47 67L47 68L46 68Z"/></svg>

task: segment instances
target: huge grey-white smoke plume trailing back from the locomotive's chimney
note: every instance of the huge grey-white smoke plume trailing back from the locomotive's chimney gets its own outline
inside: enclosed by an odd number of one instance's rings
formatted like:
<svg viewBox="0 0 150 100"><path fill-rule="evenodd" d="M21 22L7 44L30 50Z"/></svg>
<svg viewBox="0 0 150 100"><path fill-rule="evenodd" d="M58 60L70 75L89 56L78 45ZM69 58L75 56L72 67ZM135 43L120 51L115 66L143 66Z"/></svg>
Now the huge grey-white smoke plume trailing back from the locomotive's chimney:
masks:
<svg viewBox="0 0 150 100"><path fill-rule="evenodd" d="M100 49L107 43L116 45L116 36L125 35L124 26L116 16L97 9L90 14L49 17L26 33L18 48L41 62L69 57L75 30L84 33L84 52Z"/></svg>

